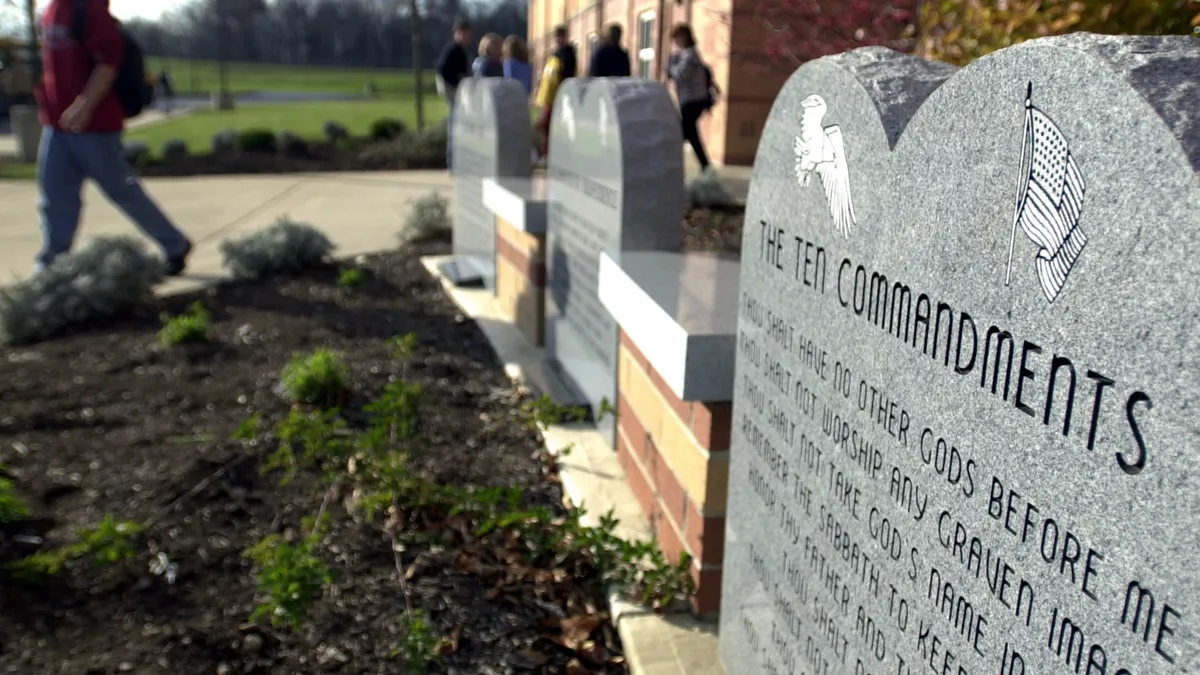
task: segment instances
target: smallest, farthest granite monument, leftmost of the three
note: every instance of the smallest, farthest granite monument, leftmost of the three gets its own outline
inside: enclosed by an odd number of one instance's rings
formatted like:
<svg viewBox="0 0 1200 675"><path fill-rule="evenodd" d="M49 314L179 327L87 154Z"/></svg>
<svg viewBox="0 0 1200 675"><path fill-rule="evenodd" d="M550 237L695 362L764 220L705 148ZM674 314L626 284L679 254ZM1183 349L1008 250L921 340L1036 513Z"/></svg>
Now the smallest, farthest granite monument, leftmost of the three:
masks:
<svg viewBox="0 0 1200 675"><path fill-rule="evenodd" d="M455 100L454 258L444 271L460 285L496 286L496 216L484 205L484 179L530 174L529 103L512 79L467 79Z"/></svg>

